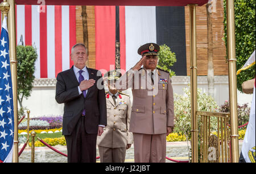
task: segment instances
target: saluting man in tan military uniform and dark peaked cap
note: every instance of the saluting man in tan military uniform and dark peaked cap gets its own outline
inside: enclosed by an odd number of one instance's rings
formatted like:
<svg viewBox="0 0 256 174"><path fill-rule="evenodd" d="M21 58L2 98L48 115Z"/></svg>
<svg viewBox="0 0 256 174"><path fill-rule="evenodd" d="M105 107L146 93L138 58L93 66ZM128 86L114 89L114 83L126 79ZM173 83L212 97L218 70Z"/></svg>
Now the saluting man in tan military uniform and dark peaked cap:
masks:
<svg viewBox="0 0 256 174"><path fill-rule="evenodd" d="M132 88L130 131L134 138L135 163L165 162L166 136L174 127L171 78L169 72L156 68L159 50L155 43L139 47L141 60L115 83L119 90Z"/></svg>

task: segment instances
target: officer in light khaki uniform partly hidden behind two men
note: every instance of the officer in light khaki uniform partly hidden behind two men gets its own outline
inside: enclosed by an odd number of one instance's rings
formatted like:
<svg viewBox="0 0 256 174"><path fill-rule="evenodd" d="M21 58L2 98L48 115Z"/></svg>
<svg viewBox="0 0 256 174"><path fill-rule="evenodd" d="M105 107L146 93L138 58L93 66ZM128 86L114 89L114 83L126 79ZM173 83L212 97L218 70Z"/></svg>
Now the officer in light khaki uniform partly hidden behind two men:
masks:
<svg viewBox="0 0 256 174"><path fill-rule="evenodd" d="M131 102L127 94L115 89L115 81L122 74L109 71L104 75L108 78L109 92L106 92L107 126L97 138L101 163L124 163L126 150L133 143L133 134L129 132Z"/></svg>

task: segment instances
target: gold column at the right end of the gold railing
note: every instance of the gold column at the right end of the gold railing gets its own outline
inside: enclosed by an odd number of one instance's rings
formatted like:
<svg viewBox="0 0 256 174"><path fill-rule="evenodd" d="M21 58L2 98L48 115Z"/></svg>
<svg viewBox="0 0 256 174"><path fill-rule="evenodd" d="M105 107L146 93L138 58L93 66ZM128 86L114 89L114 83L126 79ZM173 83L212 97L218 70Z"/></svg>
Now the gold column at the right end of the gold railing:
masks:
<svg viewBox="0 0 256 174"><path fill-rule="evenodd" d="M226 19L228 35L228 62L229 62L229 101L230 101L230 125L232 143L232 162L238 163L238 118L237 118L237 76L236 76L236 38L234 24L234 1L226 1Z"/></svg>

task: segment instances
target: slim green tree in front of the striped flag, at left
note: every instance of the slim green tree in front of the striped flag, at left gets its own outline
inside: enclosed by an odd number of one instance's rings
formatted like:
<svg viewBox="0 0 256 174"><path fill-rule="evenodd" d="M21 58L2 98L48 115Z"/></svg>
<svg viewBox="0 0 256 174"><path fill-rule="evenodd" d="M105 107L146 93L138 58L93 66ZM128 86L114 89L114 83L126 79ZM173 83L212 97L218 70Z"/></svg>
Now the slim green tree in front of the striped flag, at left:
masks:
<svg viewBox="0 0 256 174"><path fill-rule="evenodd" d="M20 107L23 98L30 97L32 82L34 81L35 61L38 57L36 49L32 46L18 45L17 55L17 93Z"/></svg>

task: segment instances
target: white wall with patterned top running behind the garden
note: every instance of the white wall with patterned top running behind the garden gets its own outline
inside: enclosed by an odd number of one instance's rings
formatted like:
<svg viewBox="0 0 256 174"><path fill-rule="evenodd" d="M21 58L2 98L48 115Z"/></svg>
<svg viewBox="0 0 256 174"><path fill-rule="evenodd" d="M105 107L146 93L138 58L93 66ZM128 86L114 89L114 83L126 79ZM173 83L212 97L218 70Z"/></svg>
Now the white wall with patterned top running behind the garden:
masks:
<svg viewBox="0 0 256 174"><path fill-rule="evenodd" d="M183 94L183 88L190 88L189 76L172 77L172 86L174 93ZM39 117L44 115L63 115L64 104L58 104L55 101L55 85L56 79L39 78L34 81L34 88L31 96L26 100L23 99L23 106L30 109L31 117ZM203 92L208 92L207 76L197 77L197 86L202 88ZM124 91L131 95L131 90ZM237 102L251 103L253 95L242 94L237 92ZM225 100L229 100L228 76L214 77L214 99L218 105L222 105Z"/></svg>

